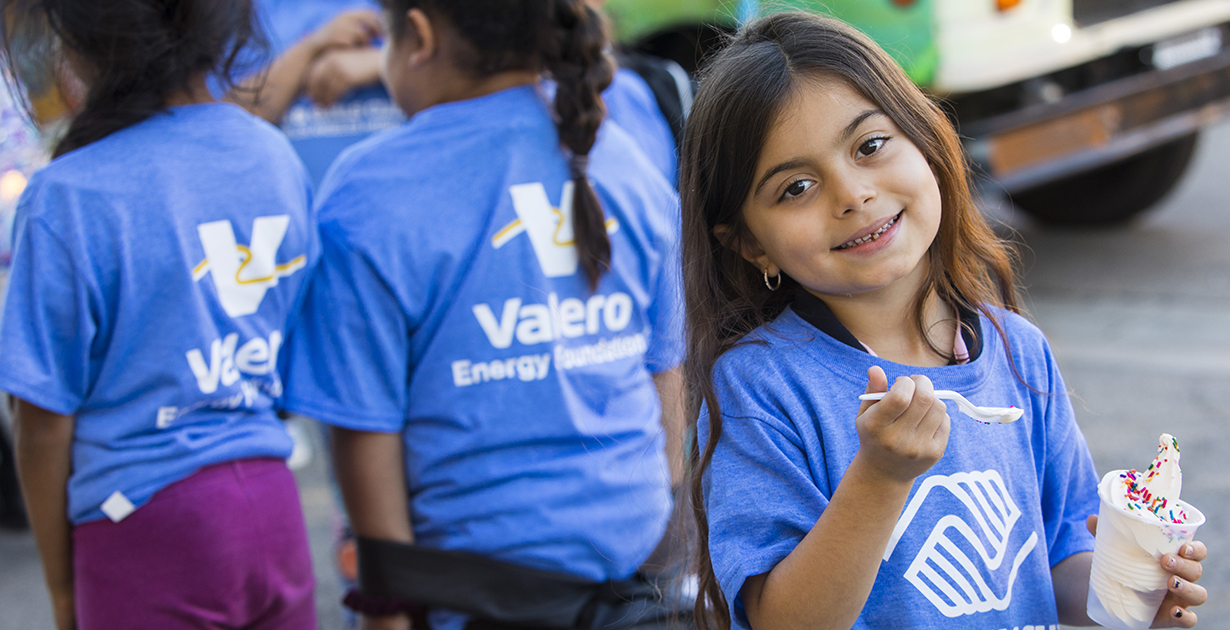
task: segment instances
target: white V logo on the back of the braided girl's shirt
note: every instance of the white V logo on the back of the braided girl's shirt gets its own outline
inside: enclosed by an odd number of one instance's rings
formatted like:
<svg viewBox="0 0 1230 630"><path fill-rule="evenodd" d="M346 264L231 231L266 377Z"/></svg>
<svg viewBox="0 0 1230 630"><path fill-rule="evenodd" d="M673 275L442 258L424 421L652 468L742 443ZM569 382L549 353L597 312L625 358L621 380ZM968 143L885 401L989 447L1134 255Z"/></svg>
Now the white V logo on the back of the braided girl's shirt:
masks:
<svg viewBox="0 0 1230 630"><path fill-rule="evenodd" d="M538 256L542 274L562 278L577 273L577 246L572 233L572 182L565 182L560 192L560 207L551 205L546 187L540 182L520 183L508 189L513 196L517 220L506 225L491 239L497 250L513 237L526 233L534 255ZM606 220L606 233L619 230L619 221Z"/></svg>

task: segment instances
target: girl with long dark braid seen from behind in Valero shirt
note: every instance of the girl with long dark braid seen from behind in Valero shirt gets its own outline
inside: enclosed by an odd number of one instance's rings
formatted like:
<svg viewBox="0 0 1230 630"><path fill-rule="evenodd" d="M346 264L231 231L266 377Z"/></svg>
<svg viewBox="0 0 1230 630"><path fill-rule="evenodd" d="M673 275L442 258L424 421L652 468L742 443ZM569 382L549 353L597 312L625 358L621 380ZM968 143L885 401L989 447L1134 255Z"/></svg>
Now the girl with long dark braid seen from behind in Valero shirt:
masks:
<svg viewBox="0 0 1230 630"><path fill-rule="evenodd" d="M603 122L600 17L384 9L410 119L326 175L288 341L359 540L347 603L365 628L674 623L637 576L679 471L678 199Z"/></svg>

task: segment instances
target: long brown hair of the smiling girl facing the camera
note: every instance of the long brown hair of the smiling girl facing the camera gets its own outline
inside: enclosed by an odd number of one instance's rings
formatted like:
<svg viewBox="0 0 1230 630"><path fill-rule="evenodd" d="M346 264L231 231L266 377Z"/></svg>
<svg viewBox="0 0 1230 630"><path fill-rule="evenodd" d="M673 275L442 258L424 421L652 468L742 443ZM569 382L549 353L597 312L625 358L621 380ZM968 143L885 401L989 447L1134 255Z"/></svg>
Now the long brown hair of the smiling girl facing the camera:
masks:
<svg viewBox="0 0 1230 630"><path fill-rule="evenodd" d="M918 145L938 182L940 230L927 251L929 277L914 303L914 322L922 338L930 338L922 330L922 309L932 292L952 306L986 314L1005 343L993 309L1018 310L1010 250L974 205L956 130L892 58L840 21L800 12L761 18L733 37L704 71L680 160L688 412L695 429L706 410L710 428L706 443L694 443L689 452L701 630L731 625L708 556L702 496L702 477L722 434L713 365L744 335L781 314L801 290L785 274L781 290L769 290L761 271L739 255L750 236L743 204L777 114L804 81L817 79L844 81L876 103ZM724 244L713 234L716 225L729 228Z"/></svg>

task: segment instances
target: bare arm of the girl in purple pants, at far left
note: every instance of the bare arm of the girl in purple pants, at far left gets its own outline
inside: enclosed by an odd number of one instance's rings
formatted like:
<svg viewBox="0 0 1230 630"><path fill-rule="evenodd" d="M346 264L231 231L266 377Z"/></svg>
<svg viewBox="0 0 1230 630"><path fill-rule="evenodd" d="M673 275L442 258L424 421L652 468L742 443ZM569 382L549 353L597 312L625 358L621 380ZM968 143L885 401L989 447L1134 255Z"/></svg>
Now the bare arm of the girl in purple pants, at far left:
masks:
<svg viewBox="0 0 1230 630"><path fill-rule="evenodd" d="M26 496L30 525L43 561L55 626L76 628L73 612L73 527L68 519L68 486L73 472L73 416L52 413L14 399L17 475Z"/></svg>

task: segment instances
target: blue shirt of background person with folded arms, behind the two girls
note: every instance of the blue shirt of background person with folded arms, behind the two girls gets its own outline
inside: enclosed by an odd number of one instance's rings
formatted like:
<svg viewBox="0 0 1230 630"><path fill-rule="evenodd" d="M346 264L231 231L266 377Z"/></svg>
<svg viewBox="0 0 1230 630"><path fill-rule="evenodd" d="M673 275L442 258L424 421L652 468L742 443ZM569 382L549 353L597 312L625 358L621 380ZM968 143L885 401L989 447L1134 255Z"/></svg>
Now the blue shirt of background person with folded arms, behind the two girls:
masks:
<svg viewBox="0 0 1230 630"><path fill-rule="evenodd" d="M260 0L257 7L274 58L341 14L380 11L380 5L371 0ZM321 107L306 95L300 96L283 116L280 127L308 167L312 183L320 185L346 148L405 121L406 114L392 102L387 90L375 84L352 91L331 107Z"/></svg>

